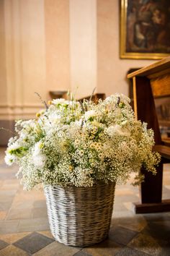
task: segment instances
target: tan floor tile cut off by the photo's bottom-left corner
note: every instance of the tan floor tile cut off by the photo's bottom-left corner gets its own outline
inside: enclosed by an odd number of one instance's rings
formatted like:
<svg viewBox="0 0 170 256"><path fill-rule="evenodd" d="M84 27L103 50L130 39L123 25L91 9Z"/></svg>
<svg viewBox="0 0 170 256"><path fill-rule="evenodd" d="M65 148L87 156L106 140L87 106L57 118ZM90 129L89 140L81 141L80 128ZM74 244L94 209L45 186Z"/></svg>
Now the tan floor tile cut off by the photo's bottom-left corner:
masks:
<svg viewBox="0 0 170 256"><path fill-rule="evenodd" d="M24 250L19 249L15 247L14 245L9 245L8 247L5 247L4 249L0 250L1 256L30 256L27 252L24 252Z"/></svg>

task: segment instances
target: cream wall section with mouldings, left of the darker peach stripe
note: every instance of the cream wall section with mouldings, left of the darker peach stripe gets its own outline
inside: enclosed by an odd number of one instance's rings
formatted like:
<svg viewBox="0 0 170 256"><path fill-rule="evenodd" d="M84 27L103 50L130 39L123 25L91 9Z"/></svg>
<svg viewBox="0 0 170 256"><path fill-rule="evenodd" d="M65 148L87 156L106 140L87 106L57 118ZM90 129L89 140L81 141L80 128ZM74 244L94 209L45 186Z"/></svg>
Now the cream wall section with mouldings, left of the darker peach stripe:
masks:
<svg viewBox="0 0 170 256"><path fill-rule="evenodd" d="M35 115L40 108L35 92L47 98L45 82L45 27L43 0L4 2L5 56L1 61L6 74L5 107L1 119ZM2 15L2 14L1 14ZM0 95L0 101L3 95Z"/></svg>

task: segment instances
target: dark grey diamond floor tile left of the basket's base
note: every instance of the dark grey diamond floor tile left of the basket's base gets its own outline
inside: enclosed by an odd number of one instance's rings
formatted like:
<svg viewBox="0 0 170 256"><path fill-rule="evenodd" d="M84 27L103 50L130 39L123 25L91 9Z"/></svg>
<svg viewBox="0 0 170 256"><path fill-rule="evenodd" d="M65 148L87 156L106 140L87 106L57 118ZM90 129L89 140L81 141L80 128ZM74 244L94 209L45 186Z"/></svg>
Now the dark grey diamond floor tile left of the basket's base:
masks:
<svg viewBox="0 0 170 256"><path fill-rule="evenodd" d="M28 253L34 254L52 242L54 242L53 239L42 234L38 234L37 232L33 232L32 234L19 239L14 243L14 246L19 247Z"/></svg>

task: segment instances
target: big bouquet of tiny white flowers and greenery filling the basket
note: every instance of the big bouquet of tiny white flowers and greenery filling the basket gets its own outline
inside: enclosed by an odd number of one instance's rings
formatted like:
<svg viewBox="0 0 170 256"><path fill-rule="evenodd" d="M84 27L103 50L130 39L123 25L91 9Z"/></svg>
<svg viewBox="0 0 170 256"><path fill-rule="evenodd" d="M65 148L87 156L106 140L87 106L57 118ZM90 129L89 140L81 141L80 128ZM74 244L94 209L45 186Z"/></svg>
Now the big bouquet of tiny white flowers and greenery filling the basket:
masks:
<svg viewBox="0 0 170 256"><path fill-rule="evenodd" d="M156 173L160 161L152 152L153 130L135 119L125 95L111 95L98 104L55 99L36 119L16 121L5 161L19 164L24 189L37 184L91 187L126 182L140 167Z"/></svg>

